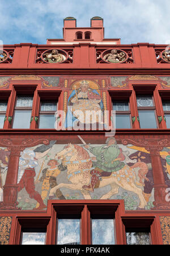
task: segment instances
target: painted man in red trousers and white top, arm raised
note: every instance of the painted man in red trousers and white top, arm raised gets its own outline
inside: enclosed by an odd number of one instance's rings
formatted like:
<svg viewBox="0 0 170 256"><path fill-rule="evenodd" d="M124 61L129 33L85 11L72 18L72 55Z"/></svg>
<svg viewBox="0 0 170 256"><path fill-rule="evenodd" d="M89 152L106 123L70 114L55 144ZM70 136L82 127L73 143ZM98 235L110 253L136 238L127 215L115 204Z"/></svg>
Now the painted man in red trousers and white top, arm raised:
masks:
<svg viewBox="0 0 170 256"><path fill-rule="evenodd" d="M35 167L39 165L38 159L43 158L54 143L56 141L50 141L49 145L39 146L35 150L26 148L19 159L18 192L25 188L29 197L39 203L39 207L35 208L38 210L46 208L46 205L39 192L35 191Z"/></svg>

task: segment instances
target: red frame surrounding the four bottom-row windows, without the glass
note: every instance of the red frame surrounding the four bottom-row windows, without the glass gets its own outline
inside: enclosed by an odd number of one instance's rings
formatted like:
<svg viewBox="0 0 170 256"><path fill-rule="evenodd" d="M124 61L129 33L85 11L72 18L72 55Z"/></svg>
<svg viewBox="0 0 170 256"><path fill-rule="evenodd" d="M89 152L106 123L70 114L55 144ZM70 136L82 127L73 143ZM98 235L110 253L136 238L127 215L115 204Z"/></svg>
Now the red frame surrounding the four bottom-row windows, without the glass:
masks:
<svg viewBox="0 0 170 256"><path fill-rule="evenodd" d="M91 214L114 214L116 245L126 245L126 229L150 230L152 245L162 244L159 218L155 214L139 211L125 212L124 200L48 200L45 211L19 213L14 222L14 236L11 244L19 245L23 229L46 229L46 245L56 245L57 216L62 214L81 217L81 245L91 245ZM67 214L68 215L68 214Z"/></svg>

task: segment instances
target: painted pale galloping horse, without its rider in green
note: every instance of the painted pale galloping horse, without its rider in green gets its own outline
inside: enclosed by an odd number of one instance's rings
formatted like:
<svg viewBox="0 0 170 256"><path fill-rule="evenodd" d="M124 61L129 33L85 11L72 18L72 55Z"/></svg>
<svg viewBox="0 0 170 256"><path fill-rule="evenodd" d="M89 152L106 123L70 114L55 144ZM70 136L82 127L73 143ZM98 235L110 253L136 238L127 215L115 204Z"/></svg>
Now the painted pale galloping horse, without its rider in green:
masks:
<svg viewBox="0 0 170 256"><path fill-rule="evenodd" d="M70 160L66 160L67 156L70 156ZM60 183L56 187L50 189L49 198L54 197L57 189L69 188L80 191L84 196L84 199L91 199L90 192L82 188L83 185L90 184L90 171L94 169L88 151L82 146L68 143L62 151L56 154L55 158L62 159L63 166L67 167L67 179L71 183ZM135 167L139 167L140 171L140 164L138 166L138 164L135 163ZM121 187L138 195L140 209L145 208L147 205L142 191L142 184L140 187L134 169L127 164L121 170L112 172L109 177L102 177L97 188L103 188L107 185L111 186L111 190L101 196L100 199L109 199L111 196L118 193L118 189Z"/></svg>

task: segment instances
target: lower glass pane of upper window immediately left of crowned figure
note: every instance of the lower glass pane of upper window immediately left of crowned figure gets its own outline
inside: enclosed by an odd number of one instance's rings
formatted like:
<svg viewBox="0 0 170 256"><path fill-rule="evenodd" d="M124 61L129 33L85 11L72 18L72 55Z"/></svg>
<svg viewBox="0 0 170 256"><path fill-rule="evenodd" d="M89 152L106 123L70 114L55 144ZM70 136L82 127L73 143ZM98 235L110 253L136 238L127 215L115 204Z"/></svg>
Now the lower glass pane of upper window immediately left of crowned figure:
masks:
<svg viewBox="0 0 170 256"><path fill-rule="evenodd" d="M54 114L40 114L40 129L54 129L56 117Z"/></svg>

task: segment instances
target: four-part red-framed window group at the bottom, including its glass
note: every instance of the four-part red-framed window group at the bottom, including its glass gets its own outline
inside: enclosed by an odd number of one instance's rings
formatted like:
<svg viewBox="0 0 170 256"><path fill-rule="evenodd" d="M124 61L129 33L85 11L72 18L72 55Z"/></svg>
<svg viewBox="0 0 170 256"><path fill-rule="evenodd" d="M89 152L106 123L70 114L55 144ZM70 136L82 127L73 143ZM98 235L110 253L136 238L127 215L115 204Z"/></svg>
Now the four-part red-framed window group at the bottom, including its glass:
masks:
<svg viewBox="0 0 170 256"><path fill-rule="evenodd" d="M15 245L161 243L155 216L126 216L123 200L50 201L48 217L45 212L36 213L36 217L17 217Z"/></svg>

